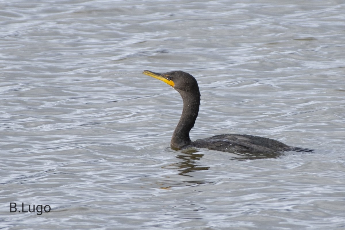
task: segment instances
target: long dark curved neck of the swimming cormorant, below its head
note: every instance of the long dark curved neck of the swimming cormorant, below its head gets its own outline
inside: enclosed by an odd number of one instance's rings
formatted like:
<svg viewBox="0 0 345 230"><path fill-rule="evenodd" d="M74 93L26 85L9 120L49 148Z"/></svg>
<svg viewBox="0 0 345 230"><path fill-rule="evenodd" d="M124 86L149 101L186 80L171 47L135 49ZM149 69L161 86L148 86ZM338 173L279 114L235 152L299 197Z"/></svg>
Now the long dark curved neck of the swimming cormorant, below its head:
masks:
<svg viewBox="0 0 345 230"><path fill-rule="evenodd" d="M200 106L200 92L197 91L179 91L183 99L183 110L180 121L178 122L174 134L172 134L170 146L172 149L181 149L191 142L189 131L193 128L198 117Z"/></svg>

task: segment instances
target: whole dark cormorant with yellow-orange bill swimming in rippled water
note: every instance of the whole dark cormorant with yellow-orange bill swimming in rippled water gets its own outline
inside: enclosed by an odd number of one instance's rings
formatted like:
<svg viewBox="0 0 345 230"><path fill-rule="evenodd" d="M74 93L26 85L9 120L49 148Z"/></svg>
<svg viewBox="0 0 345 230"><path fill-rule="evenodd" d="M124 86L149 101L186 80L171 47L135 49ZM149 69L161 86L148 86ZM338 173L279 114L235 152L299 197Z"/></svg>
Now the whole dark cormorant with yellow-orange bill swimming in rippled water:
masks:
<svg viewBox="0 0 345 230"><path fill-rule="evenodd" d="M183 71L155 73L144 70L142 73L169 84L180 93L183 99L182 114L171 138L170 147L172 149L180 150L195 147L232 153L265 153L289 150L299 152L312 151L310 149L290 147L273 139L247 134L220 134L191 141L189 131L193 128L198 117L200 106L200 91L196 79Z"/></svg>

